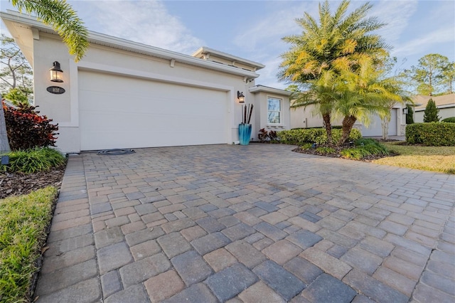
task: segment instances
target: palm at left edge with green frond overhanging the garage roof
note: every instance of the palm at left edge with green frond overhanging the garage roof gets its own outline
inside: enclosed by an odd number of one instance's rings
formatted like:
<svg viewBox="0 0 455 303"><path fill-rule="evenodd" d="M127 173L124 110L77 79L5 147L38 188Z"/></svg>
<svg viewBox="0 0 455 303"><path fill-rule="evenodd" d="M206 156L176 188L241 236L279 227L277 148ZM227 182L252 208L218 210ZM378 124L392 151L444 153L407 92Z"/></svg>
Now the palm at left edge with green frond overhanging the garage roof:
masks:
<svg viewBox="0 0 455 303"><path fill-rule="evenodd" d="M70 55L79 61L88 48L88 31L76 12L65 0L10 0L18 11L27 14L36 14L38 20L53 27L63 38ZM3 111L3 102L0 112L0 153L11 151Z"/></svg>

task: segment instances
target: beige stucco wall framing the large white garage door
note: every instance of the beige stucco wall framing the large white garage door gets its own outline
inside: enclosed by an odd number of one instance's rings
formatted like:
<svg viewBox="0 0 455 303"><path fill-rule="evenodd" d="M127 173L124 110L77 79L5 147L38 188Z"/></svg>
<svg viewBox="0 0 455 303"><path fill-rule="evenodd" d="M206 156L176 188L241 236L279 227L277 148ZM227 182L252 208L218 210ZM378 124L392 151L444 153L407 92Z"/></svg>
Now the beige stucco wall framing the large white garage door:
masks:
<svg viewBox="0 0 455 303"><path fill-rule="evenodd" d="M64 83L52 83L49 80L48 70L54 61L60 63L64 72ZM132 78L181 83L228 92L230 96L227 107L229 117L226 143L228 144L238 140L238 124L242 119L242 107L237 100L237 90L244 93L246 103L256 100L256 96L248 92L248 88L255 85L254 80L245 83L244 78L240 75L208 70L178 61L171 66L171 60L154 58L127 50L92 44L85 57L75 63L58 36L40 32L39 38L33 40L35 102L36 105L39 105L38 110L41 111L41 115L47 115L59 124L60 136L57 145L66 152L80 150L77 91L79 70L114 73ZM51 85L63 87L65 93L53 95L47 92L46 87ZM255 125L254 127L258 129Z"/></svg>

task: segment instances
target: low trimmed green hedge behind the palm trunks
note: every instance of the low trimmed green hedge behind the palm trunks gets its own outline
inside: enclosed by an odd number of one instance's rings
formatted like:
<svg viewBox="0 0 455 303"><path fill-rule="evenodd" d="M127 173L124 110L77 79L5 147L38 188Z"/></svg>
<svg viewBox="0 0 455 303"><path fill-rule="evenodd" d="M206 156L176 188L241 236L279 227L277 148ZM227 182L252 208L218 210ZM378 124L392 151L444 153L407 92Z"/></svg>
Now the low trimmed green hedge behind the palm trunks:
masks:
<svg viewBox="0 0 455 303"><path fill-rule="evenodd" d="M332 129L333 142L338 142L341 139L342 129ZM305 143L317 143L325 144L327 142L326 129L320 128L308 128L308 129L291 129L282 130L277 132L277 136L280 142L285 144L296 144L302 145ZM349 140L360 139L362 134L358 129L352 129L350 131Z"/></svg>

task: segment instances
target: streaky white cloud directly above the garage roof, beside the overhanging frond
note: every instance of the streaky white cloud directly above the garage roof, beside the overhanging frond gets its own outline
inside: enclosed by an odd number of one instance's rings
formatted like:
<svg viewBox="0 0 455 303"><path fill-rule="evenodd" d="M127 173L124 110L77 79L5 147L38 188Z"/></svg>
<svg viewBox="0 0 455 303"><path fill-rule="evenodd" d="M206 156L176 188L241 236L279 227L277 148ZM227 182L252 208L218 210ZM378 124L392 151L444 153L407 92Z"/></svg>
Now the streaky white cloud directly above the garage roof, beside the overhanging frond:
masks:
<svg viewBox="0 0 455 303"><path fill-rule="evenodd" d="M204 43L168 13L163 1L73 2L87 23L97 23L102 33L127 40L191 54ZM94 18L95 17L95 18Z"/></svg>

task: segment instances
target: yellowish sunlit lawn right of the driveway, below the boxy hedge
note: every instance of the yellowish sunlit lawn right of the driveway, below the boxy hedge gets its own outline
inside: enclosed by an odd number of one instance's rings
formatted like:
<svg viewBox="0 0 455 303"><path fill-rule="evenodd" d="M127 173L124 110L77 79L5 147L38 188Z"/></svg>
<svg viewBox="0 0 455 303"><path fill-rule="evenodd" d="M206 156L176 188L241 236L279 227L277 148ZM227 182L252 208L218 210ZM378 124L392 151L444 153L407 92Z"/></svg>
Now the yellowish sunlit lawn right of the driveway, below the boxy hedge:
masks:
<svg viewBox="0 0 455 303"><path fill-rule="evenodd" d="M373 161L374 163L455 174L455 147L400 145L402 142L382 144L400 155L377 159Z"/></svg>

